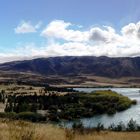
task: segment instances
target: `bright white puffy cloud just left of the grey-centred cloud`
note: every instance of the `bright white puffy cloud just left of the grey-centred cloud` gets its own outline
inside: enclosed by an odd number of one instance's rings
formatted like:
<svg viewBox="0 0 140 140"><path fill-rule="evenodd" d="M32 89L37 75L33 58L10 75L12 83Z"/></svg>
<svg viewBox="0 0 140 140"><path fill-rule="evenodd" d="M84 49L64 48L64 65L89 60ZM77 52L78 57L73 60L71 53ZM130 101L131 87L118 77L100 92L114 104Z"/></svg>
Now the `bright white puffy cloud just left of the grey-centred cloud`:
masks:
<svg viewBox="0 0 140 140"><path fill-rule="evenodd" d="M87 32L69 29L69 27L71 26L73 25L69 22L55 20L52 21L49 25L47 25L47 27L42 31L41 35L46 38L54 37L58 39L64 39L66 41L77 41L77 42L87 41L88 38Z"/></svg>

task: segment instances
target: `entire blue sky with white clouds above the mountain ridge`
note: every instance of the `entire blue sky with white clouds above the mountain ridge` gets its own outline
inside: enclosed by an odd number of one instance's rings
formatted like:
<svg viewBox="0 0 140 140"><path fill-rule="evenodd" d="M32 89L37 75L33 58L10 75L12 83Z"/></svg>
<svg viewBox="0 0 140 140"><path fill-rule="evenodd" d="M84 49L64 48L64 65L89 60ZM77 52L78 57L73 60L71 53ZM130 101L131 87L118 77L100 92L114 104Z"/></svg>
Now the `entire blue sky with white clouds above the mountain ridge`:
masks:
<svg viewBox="0 0 140 140"><path fill-rule="evenodd" d="M140 56L140 0L0 0L0 63Z"/></svg>

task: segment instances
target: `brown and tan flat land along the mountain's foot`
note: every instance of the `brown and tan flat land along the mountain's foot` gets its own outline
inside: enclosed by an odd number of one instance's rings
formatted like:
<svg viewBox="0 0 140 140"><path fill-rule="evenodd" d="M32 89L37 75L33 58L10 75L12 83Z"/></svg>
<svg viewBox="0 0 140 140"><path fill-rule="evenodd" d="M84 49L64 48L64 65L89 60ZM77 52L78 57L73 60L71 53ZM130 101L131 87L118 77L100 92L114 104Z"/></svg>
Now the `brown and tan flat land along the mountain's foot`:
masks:
<svg viewBox="0 0 140 140"><path fill-rule="evenodd" d="M43 76L30 72L0 71L0 84L53 85L60 87L140 87L139 77L108 78L94 75Z"/></svg>

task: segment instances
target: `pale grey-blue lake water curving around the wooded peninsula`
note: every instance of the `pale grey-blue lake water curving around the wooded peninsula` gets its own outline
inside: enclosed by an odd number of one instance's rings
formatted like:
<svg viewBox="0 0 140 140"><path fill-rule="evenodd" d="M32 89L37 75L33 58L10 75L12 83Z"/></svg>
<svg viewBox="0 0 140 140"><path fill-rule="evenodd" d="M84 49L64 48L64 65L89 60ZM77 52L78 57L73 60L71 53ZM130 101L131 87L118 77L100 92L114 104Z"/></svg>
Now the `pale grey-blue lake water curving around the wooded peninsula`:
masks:
<svg viewBox="0 0 140 140"><path fill-rule="evenodd" d="M131 99L137 100L137 105L133 105L131 108L116 113L112 116L107 114L104 115L97 115L92 118L83 118L81 119L83 125L85 127L94 127L97 126L98 123L104 124L105 127L108 127L110 124L115 123L118 124L119 122L123 122L125 124L133 118L136 120L138 124L140 124L140 88L75 88L78 91L85 91L90 94L91 91L95 90L109 90L116 91L120 94L128 96ZM77 121L77 120L75 120ZM61 122L62 125L66 127L71 127L74 121L63 121Z"/></svg>

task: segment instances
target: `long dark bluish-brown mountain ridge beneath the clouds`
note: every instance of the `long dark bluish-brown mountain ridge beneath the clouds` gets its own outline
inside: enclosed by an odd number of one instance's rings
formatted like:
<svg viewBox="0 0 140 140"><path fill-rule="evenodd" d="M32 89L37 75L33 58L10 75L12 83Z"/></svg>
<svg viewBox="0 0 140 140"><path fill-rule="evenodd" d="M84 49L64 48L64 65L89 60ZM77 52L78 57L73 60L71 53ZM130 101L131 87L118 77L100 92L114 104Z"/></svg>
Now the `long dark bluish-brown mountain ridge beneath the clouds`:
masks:
<svg viewBox="0 0 140 140"><path fill-rule="evenodd" d="M140 57L66 56L38 58L0 64L2 71L31 72L41 75L94 75L110 78L140 77Z"/></svg>

